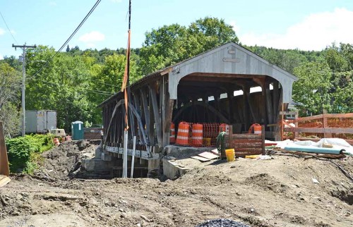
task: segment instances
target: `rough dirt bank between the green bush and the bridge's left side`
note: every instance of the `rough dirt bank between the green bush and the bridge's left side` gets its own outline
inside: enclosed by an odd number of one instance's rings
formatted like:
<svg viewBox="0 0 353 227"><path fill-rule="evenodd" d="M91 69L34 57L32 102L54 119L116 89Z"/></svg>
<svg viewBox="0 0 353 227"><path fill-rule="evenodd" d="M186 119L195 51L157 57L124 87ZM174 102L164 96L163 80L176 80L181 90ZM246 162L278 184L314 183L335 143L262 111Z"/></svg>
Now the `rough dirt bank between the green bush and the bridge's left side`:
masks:
<svg viewBox="0 0 353 227"><path fill-rule="evenodd" d="M34 176L47 180L73 178L80 168L81 160L95 155L98 142L66 141L42 154L43 163Z"/></svg>

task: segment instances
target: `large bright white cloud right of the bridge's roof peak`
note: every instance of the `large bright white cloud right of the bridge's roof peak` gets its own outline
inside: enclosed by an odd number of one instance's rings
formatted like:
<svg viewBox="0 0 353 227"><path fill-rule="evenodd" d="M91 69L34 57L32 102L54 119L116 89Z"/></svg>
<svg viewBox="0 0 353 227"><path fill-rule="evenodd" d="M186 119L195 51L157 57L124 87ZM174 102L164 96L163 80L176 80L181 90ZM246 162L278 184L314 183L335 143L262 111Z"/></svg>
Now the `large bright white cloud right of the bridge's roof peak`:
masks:
<svg viewBox="0 0 353 227"><path fill-rule="evenodd" d="M239 35L247 45L274 47L278 49L322 50L333 42L352 43L353 11L335 8L333 12L314 13L300 23L289 26L285 34L248 33Z"/></svg>

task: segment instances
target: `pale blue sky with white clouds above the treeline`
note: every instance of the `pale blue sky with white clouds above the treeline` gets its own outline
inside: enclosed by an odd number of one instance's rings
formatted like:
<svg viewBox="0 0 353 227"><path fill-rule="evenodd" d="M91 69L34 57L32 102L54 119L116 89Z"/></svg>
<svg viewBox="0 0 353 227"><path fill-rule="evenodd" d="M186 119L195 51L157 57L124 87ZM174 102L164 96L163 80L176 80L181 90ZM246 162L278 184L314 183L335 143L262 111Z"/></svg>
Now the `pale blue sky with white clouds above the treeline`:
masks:
<svg viewBox="0 0 353 227"><path fill-rule="evenodd" d="M59 49L96 0L0 0L0 59L19 56L12 44ZM128 0L102 0L69 42L80 49L126 47ZM198 18L225 19L242 44L321 50L353 43L351 0L132 0L131 46L162 25L189 25ZM11 36L11 33L17 42Z"/></svg>

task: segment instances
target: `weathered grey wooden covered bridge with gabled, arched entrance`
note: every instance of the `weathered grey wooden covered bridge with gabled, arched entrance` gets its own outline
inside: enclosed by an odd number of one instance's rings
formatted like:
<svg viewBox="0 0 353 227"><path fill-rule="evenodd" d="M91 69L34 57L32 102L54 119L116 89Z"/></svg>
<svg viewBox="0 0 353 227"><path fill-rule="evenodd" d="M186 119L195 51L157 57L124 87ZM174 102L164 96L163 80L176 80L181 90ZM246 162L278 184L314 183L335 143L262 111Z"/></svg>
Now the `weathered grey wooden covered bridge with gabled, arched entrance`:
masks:
<svg viewBox="0 0 353 227"><path fill-rule="evenodd" d="M292 100L297 78L260 56L229 42L191 59L159 70L130 86L129 150L137 136L140 159L160 159L169 145L171 124L227 123L239 133L251 124L265 125L266 137L275 139L282 104ZM122 153L124 94L102 104L104 151Z"/></svg>

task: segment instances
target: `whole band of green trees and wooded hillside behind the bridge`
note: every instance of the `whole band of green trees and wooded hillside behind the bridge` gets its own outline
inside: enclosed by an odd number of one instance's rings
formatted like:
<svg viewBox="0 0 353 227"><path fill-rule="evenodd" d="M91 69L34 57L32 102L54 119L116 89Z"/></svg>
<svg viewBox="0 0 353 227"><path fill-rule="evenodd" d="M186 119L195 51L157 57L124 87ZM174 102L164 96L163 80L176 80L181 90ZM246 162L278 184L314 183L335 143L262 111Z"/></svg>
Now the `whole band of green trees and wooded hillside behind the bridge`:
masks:
<svg viewBox="0 0 353 227"><path fill-rule="evenodd" d="M145 33L142 47L131 51L131 78L135 82L155 70L173 65L226 42L241 42L231 25L217 18L201 18L189 26L164 25ZM353 46L328 44L323 51L246 47L271 63L297 75L293 101L302 116L353 111ZM119 92L126 50L45 46L28 49L26 109L53 109L58 127L68 130L72 121L86 126L102 123L96 106ZM7 135L20 131L21 63L14 56L0 61L0 120Z"/></svg>

